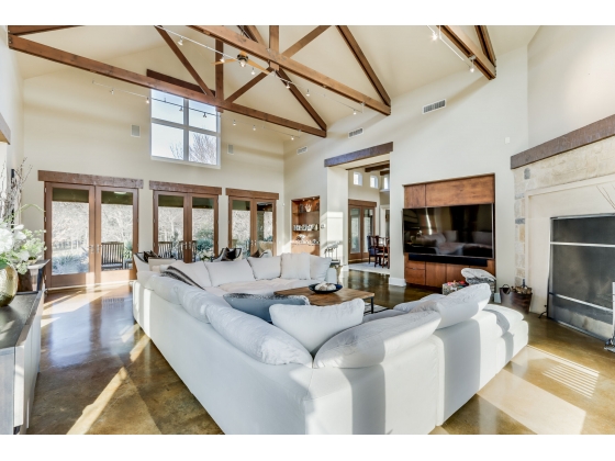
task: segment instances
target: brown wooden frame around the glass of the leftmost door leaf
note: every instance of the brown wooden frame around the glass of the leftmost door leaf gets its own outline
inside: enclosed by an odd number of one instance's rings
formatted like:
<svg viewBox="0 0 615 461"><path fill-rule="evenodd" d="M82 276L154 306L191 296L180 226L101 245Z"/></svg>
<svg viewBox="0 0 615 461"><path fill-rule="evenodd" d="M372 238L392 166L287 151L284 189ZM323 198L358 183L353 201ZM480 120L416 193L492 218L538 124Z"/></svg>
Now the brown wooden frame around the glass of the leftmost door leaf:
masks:
<svg viewBox="0 0 615 461"><path fill-rule="evenodd" d="M49 190L47 190L49 188ZM69 273L64 276L53 274L53 189L76 189L88 190L89 193L89 236L88 236L88 255L89 255L89 270L81 273ZM48 286L65 288L65 286L79 286L96 283L96 251L92 251L92 245L96 245L96 187L92 184L67 184L64 182L44 182L44 199L45 199L45 259L49 259L49 263L45 268L45 279L48 281ZM48 218L47 218L48 217ZM57 285L54 285L53 278L62 278ZM91 279L91 280L89 280Z"/></svg>

